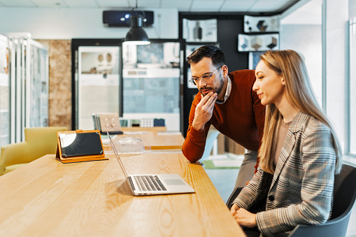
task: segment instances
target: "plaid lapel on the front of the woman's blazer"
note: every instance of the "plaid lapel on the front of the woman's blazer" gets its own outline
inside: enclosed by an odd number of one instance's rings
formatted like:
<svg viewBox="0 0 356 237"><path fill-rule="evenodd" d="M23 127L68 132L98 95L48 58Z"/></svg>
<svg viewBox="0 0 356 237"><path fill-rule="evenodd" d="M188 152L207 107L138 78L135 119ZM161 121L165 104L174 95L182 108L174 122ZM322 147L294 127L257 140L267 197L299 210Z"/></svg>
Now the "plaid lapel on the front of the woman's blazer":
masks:
<svg viewBox="0 0 356 237"><path fill-rule="evenodd" d="M295 134L297 134L297 132L304 127L304 117L305 114L299 111L299 113L294 117L293 121L290 123L290 127L288 128L287 131L287 136L285 137L285 143L283 144L282 150L280 150L280 155L278 157L276 170L274 171L270 190L272 189L276 180L278 180L280 171L282 171L285 162L290 157L290 153L294 148L294 144L296 140Z"/></svg>

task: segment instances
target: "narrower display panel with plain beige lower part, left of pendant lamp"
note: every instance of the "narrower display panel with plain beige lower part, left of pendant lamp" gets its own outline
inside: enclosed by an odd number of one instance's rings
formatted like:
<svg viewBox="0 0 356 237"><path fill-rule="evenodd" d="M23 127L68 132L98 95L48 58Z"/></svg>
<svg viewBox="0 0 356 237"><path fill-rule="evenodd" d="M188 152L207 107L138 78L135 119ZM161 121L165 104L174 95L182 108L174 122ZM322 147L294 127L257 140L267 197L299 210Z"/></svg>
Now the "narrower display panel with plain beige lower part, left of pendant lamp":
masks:
<svg viewBox="0 0 356 237"><path fill-rule="evenodd" d="M118 46L78 48L76 78L78 129L94 129L92 113L119 113L119 54Z"/></svg>

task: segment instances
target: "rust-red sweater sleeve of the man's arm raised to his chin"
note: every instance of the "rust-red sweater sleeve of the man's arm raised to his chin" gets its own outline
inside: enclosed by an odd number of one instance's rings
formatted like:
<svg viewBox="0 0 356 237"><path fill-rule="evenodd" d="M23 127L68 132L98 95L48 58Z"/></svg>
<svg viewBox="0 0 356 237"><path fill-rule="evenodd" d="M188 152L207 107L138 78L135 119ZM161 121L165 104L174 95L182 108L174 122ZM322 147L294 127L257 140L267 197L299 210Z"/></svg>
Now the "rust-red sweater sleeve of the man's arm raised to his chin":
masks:
<svg viewBox="0 0 356 237"><path fill-rule="evenodd" d="M190 162L197 162L204 154L206 137L208 136L208 131L211 126L210 122L207 122L204 129L199 131L192 127L192 123L195 115L195 108L201 100L200 93L195 96L192 103L192 108L190 108L189 114L189 126L187 129L187 136L182 146L182 152L185 158Z"/></svg>

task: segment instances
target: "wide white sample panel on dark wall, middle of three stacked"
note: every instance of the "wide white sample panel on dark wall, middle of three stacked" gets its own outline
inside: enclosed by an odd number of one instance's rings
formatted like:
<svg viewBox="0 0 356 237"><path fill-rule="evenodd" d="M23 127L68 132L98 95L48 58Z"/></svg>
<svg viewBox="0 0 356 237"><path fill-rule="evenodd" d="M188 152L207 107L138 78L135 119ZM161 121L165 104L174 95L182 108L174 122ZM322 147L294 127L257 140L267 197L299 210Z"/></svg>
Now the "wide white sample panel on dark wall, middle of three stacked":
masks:
<svg viewBox="0 0 356 237"><path fill-rule="evenodd" d="M279 50L279 34L238 34L238 51Z"/></svg>

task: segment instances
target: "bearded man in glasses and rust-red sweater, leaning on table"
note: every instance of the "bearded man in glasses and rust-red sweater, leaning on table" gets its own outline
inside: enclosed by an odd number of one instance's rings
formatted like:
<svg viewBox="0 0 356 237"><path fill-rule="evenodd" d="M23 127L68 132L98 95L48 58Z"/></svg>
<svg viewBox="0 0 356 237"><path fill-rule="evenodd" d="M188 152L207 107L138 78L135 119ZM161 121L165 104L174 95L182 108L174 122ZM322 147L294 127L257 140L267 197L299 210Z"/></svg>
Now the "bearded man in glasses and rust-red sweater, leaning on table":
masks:
<svg viewBox="0 0 356 237"><path fill-rule="evenodd" d="M257 150L262 139L265 108L256 92L254 70L228 73L225 54L213 45L204 45L187 57L194 85L199 92L190 109L183 154L197 162L204 153L211 124L222 134L247 149L235 187L244 187L258 166Z"/></svg>

